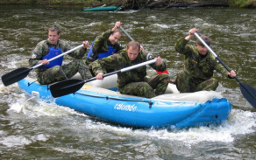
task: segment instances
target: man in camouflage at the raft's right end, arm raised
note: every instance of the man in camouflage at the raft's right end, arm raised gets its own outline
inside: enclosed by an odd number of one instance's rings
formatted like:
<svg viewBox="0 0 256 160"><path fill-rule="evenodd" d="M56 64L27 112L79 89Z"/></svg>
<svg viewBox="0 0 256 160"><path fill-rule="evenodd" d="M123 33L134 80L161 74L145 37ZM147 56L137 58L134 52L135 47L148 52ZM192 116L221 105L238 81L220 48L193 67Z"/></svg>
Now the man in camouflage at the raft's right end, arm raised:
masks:
<svg viewBox="0 0 256 160"><path fill-rule="evenodd" d="M228 73L199 39L196 41L196 46L187 45L188 41L194 38L195 32L197 32L196 28L189 30L188 36L180 38L175 44L176 52L185 55L184 68L177 73L176 78L176 86L181 93L216 90L218 81L212 78L214 70L230 78L237 76L233 70ZM210 45L210 38L207 36L201 36L201 38Z"/></svg>

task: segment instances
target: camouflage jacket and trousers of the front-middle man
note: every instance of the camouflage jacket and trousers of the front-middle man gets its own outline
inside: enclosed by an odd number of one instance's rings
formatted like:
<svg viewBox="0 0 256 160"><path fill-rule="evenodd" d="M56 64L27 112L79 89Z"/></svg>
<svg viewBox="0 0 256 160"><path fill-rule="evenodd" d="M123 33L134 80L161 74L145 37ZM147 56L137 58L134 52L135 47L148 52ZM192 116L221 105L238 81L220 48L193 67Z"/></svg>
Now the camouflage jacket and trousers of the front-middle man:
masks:
<svg viewBox="0 0 256 160"><path fill-rule="evenodd" d="M147 60L146 57L146 52L139 52L136 59L130 60L126 50L122 50L118 54L111 55L107 58L97 59L91 63L90 69L95 74L106 73L106 68L119 70L145 62ZM164 71L166 69L165 63L161 66L156 66L155 64L151 64L150 66L158 71ZM168 85L166 80L169 80L168 75L165 73L147 78L146 66L141 66L124 73L117 73L117 77L117 88L121 94L138 95L146 98L164 94Z"/></svg>

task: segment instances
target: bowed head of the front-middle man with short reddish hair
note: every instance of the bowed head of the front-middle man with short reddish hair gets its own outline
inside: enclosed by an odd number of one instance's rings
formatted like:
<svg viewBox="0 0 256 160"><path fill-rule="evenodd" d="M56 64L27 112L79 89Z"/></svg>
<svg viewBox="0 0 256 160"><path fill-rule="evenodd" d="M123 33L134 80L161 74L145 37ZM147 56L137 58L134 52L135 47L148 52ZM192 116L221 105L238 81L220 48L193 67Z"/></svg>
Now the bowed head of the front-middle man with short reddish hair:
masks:
<svg viewBox="0 0 256 160"><path fill-rule="evenodd" d="M137 41L130 41L126 46L126 52L130 60L138 57L140 51L140 44Z"/></svg>

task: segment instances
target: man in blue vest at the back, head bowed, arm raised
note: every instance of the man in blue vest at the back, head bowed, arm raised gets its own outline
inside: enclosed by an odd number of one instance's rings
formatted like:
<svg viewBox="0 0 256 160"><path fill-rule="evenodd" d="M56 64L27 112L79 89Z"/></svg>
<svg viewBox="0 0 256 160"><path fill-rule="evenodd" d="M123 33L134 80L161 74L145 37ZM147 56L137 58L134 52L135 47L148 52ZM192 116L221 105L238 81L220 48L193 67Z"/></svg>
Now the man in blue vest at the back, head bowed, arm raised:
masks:
<svg viewBox="0 0 256 160"><path fill-rule="evenodd" d="M121 25L122 23L117 21L112 29L105 31L102 35L96 37L95 41L91 44L87 55L87 65L96 59L103 59L104 57L108 57L113 53L117 53L124 49L124 47L118 43L122 36L121 32L118 31L118 28Z"/></svg>

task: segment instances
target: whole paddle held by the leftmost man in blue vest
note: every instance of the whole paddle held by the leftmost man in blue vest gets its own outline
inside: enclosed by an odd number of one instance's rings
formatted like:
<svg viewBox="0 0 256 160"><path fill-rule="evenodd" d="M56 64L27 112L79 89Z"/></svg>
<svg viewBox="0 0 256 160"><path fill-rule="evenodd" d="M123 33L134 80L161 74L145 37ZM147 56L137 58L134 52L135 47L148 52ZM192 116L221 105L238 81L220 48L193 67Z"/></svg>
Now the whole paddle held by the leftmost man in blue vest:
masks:
<svg viewBox="0 0 256 160"><path fill-rule="evenodd" d="M78 45L75 48L73 48L73 49L71 49L67 52L63 52L62 54L54 57L53 59L48 59L48 61L50 62L54 59L58 59L61 56L64 56L65 54L68 54L69 52L73 52L73 51L81 48L82 46L83 45ZM21 67L21 68L18 68L16 70L11 71L10 73L4 74L2 76L2 81L4 83L4 86L9 86L9 85L17 82L18 80L24 79L32 69L37 68L39 66L42 66L42 64L40 63L39 65L32 66L31 68Z"/></svg>

